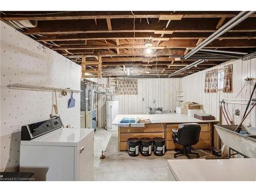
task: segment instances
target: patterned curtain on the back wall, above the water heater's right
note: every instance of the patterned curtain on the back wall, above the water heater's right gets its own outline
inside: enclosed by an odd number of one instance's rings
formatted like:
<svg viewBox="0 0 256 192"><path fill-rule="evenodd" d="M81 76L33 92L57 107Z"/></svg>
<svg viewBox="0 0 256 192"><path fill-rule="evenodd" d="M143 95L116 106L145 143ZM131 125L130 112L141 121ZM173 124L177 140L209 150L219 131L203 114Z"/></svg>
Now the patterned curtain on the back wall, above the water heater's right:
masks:
<svg viewBox="0 0 256 192"><path fill-rule="evenodd" d="M116 95L138 95L138 80L134 78L117 79L115 94Z"/></svg>

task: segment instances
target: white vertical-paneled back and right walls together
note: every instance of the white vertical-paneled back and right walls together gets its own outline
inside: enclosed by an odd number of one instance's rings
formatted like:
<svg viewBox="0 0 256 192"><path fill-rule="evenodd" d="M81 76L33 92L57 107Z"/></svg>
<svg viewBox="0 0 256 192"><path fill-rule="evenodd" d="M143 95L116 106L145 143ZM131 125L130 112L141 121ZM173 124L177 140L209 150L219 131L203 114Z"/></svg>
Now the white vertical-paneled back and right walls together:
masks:
<svg viewBox="0 0 256 192"><path fill-rule="evenodd" d="M244 78L251 77L254 79L247 82L243 91L237 96L237 98L248 99L255 82L255 58L248 61L229 61L211 69L222 69L229 63L233 64L231 93L223 93L222 91L218 91L218 93L204 93L204 78L207 70L183 78L137 78L138 95L115 95L114 99L119 101L119 114L144 114L147 112L148 106L162 106L164 110L174 112L176 106L182 105L182 102L176 101L175 91L184 90L185 101L195 101L203 104L205 113L212 114L219 119L219 101L223 98L236 97L245 84ZM99 84L108 85L109 79L98 78L97 81ZM100 90L105 91L103 87ZM254 98L256 98L255 94ZM155 103L153 102L154 100L156 101ZM105 101L105 96L97 95L98 126L100 127L105 126ZM227 104L227 110L231 118L234 110L239 109L241 111L240 116L234 116L234 122L236 124L241 121L245 107L245 105L241 104ZM224 120L223 124L227 124L227 122ZM255 110L252 111L245 121L245 125L249 124L255 124Z"/></svg>

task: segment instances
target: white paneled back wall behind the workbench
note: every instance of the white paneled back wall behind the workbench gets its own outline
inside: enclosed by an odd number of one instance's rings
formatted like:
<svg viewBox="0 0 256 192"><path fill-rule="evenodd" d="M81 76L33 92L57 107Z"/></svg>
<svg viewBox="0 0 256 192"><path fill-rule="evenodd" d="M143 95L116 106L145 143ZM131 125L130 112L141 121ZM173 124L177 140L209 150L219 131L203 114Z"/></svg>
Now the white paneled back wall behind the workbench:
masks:
<svg viewBox="0 0 256 192"><path fill-rule="evenodd" d="M181 106L175 99L175 91L180 90L181 78L137 78L138 95L115 95L114 100L119 101L119 114L145 114L147 107L160 107L174 112L176 106ZM96 79L99 84L107 84L108 78ZM101 91L105 91L102 89ZM143 101L144 98L144 101ZM153 103L153 101L156 101ZM105 126L106 97L97 95L98 126Z"/></svg>

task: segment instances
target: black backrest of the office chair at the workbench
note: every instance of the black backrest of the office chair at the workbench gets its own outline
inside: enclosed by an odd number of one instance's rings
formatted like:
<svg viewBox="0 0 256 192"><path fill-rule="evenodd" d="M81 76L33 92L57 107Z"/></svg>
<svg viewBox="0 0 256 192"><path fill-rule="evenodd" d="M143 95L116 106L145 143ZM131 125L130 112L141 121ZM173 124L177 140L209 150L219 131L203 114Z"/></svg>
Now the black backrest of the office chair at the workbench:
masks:
<svg viewBox="0 0 256 192"><path fill-rule="evenodd" d="M201 126L196 123L180 124L177 138L182 145L195 145L199 141Z"/></svg>

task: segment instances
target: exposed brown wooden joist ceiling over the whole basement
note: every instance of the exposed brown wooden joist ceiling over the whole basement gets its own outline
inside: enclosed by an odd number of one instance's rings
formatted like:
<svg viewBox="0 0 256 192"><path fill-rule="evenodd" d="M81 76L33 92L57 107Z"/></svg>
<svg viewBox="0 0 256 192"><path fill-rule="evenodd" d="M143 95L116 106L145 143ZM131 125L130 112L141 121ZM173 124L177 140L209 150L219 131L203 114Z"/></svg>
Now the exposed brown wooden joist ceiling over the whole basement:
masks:
<svg viewBox="0 0 256 192"><path fill-rule="evenodd" d="M184 54L189 51L188 48L199 45L239 12L133 11L133 13L134 15L131 11L58 13L4 11L1 13L1 20L5 22L38 20L35 28L27 28L22 32L79 65L86 59L90 63L87 69L83 70L97 73L98 76L102 74L103 77L126 76L125 66L131 69L131 76L155 77L159 74L160 77L167 77L199 58L208 59L197 68L191 68L174 76L183 77L219 65L221 62L239 58L233 55L228 57L199 52L186 60L183 59ZM253 14L233 27L206 48L255 51L255 16L256 14ZM145 51L146 40L152 42L151 54ZM101 71L93 64L98 63L95 59L98 56L102 57ZM158 60L158 73L156 60Z"/></svg>

